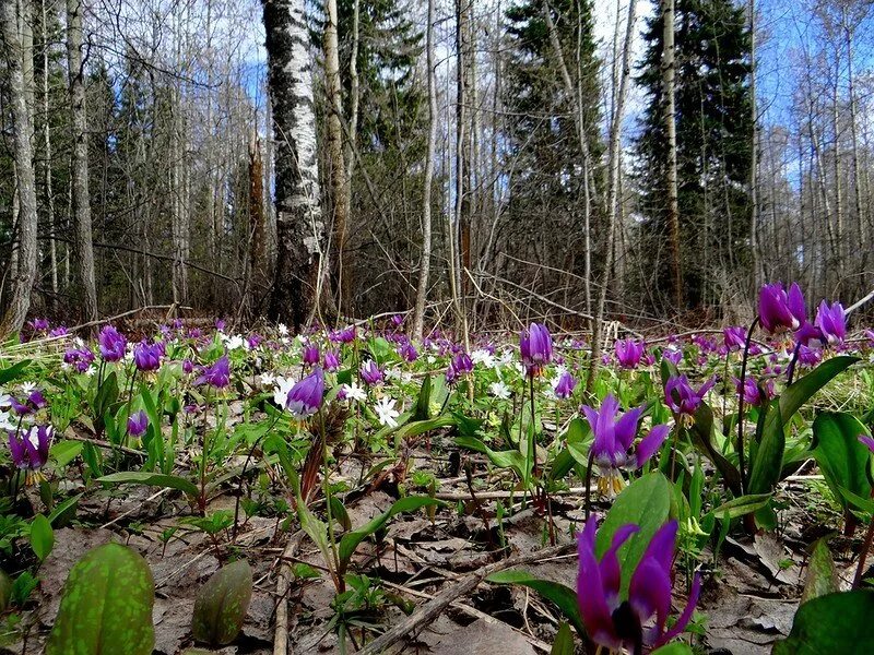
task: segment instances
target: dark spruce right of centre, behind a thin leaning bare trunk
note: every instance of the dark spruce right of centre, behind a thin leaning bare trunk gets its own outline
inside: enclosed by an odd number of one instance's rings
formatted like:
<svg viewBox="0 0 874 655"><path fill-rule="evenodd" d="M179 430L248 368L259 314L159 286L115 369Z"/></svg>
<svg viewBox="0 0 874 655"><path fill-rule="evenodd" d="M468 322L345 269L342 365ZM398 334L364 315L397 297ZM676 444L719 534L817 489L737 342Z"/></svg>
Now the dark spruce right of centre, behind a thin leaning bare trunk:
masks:
<svg viewBox="0 0 874 655"><path fill-rule="evenodd" d="M562 46L565 68L582 107L582 123L590 153L591 247L599 252L599 211L603 179L601 155L600 62L595 53L592 3L589 0L551 0L552 23ZM556 267L583 274L583 153L575 123L575 100L568 97L563 72L550 38L542 0L522 0L506 13L508 58L504 70L506 108L506 165L510 178L509 241L556 251L565 260ZM598 262L595 261L595 266ZM546 273L544 273L546 274ZM548 284L548 281L543 281ZM553 282L559 282L556 278Z"/></svg>

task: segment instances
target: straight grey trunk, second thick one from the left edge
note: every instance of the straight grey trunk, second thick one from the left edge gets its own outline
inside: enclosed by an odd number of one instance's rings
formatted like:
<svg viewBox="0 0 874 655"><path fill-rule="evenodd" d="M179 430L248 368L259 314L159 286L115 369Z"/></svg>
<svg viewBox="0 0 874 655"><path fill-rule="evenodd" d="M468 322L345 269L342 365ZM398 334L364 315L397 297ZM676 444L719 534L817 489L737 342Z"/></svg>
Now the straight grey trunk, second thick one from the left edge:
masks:
<svg viewBox="0 0 874 655"><path fill-rule="evenodd" d="M82 0L67 0L67 67L70 76L70 124L73 153L70 187L73 194L73 251L80 285L82 318L97 318L97 290L94 284L94 250L91 239L91 198L88 196L88 141L85 111L85 80L82 61Z"/></svg>

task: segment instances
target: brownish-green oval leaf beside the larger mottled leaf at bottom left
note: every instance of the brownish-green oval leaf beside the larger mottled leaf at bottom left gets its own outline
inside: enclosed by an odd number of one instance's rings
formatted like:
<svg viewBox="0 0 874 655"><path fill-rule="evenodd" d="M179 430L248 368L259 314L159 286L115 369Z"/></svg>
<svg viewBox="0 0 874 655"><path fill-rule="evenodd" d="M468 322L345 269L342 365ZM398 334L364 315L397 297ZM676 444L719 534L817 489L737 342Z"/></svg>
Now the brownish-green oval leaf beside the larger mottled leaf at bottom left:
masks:
<svg viewBox="0 0 874 655"><path fill-rule="evenodd" d="M216 646L229 644L243 629L251 597L252 569L246 560L218 569L194 600L194 640Z"/></svg>

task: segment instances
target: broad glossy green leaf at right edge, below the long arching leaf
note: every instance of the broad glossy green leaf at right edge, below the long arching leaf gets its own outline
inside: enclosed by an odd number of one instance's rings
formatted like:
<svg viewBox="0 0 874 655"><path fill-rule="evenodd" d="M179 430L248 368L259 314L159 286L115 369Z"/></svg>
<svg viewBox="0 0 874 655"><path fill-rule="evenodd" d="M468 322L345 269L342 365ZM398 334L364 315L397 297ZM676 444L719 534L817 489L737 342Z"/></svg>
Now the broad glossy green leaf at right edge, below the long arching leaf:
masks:
<svg viewBox="0 0 874 655"><path fill-rule="evenodd" d="M867 429L845 412L826 412L813 421L813 456L845 510L847 501L841 489L862 498L871 496L871 451L859 441L860 434L867 434Z"/></svg>

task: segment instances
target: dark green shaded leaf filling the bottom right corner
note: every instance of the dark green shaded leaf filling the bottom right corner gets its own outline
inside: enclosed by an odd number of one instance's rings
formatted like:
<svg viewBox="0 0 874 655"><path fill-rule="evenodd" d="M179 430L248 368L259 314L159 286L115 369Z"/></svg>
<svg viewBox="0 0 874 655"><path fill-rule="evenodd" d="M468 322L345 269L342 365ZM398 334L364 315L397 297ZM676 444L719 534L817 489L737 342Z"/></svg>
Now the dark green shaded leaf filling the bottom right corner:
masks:
<svg viewBox="0 0 874 655"><path fill-rule="evenodd" d="M773 645L772 655L874 653L874 592L855 590L827 594L799 607L789 638Z"/></svg>

